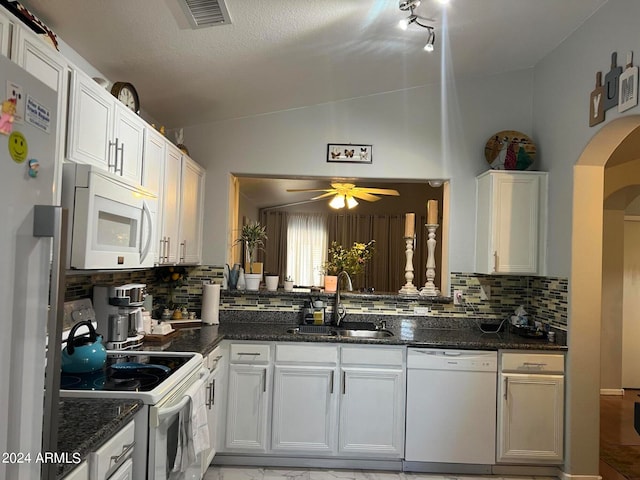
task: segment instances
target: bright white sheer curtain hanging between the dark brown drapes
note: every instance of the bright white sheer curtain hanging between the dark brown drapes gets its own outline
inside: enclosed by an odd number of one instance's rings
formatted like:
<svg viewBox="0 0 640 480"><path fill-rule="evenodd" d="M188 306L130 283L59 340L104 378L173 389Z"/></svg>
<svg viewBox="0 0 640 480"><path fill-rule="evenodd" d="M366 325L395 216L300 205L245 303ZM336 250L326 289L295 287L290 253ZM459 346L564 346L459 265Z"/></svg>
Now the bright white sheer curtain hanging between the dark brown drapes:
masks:
<svg viewBox="0 0 640 480"><path fill-rule="evenodd" d="M327 250L325 214L289 214L286 271L296 285L322 285L319 267L327 260Z"/></svg>

